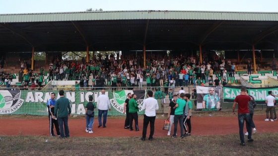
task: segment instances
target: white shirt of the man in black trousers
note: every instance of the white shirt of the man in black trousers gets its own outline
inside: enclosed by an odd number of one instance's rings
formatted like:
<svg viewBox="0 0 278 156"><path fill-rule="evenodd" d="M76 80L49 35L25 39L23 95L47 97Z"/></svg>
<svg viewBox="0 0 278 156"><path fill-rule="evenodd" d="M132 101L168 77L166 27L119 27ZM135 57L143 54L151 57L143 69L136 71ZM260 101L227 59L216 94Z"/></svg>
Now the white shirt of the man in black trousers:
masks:
<svg viewBox="0 0 278 156"><path fill-rule="evenodd" d="M150 97L143 101L142 110L145 110L146 116L155 116L155 110L158 110L157 100Z"/></svg>

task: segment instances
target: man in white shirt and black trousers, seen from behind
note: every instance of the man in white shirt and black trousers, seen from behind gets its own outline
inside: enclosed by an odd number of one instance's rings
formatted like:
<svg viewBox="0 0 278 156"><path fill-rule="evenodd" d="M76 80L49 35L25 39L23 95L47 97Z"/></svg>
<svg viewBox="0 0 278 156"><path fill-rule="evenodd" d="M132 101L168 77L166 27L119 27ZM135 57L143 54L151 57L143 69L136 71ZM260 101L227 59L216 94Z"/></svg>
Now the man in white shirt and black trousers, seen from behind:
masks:
<svg viewBox="0 0 278 156"><path fill-rule="evenodd" d="M144 120L143 120L143 133L141 140L144 141L147 133L148 123L150 125L150 134L148 140L152 141L152 136L154 133L154 121L155 121L155 110L158 110L157 100L152 98L152 91L147 92L147 99L143 101L142 110L145 110Z"/></svg>

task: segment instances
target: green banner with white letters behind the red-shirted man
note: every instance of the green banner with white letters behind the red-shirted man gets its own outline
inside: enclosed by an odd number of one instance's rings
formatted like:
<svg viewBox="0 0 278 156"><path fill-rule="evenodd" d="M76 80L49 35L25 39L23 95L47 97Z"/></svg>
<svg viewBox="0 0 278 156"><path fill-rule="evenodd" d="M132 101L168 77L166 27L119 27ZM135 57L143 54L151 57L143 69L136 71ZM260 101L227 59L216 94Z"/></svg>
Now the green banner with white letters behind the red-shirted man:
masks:
<svg viewBox="0 0 278 156"><path fill-rule="evenodd" d="M268 91L272 91L273 95L278 95L277 87L268 88L248 88L249 95L253 96L257 104L266 104ZM223 87L224 103L233 103L236 96L240 95L240 86L225 86Z"/></svg>

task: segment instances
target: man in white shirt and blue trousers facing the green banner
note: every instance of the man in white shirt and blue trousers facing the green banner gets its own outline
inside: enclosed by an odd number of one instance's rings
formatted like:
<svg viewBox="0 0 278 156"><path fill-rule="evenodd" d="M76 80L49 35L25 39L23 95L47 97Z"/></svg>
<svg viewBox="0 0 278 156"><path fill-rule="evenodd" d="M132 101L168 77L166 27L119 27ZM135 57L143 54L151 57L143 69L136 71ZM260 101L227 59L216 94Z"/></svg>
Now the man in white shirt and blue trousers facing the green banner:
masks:
<svg viewBox="0 0 278 156"><path fill-rule="evenodd" d="M111 110L110 101L107 95L105 95L105 90L101 91L101 95L97 98L97 108L98 108L98 128L102 126L101 123L101 116L103 114L103 128L106 127L106 118L107 118L107 112Z"/></svg>

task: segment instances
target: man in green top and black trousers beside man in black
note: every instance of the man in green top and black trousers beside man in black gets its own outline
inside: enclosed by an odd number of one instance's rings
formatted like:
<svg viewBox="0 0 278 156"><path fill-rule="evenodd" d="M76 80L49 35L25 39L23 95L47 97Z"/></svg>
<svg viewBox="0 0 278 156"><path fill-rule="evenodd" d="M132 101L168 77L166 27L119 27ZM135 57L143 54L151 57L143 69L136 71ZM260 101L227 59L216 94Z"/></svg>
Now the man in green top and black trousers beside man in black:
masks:
<svg viewBox="0 0 278 156"><path fill-rule="evenodd" d="M133 119L134 119L134 122L135 122L135 131L139 131L139 128L138 128L138 113L137 113L139 111L139 107L138 107L136 98L137 98L136 94L133 94L132 98L129 101L130 130L131 131L133 131L133 127L132 127Z"/></svg>

